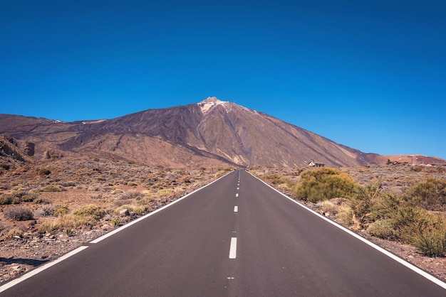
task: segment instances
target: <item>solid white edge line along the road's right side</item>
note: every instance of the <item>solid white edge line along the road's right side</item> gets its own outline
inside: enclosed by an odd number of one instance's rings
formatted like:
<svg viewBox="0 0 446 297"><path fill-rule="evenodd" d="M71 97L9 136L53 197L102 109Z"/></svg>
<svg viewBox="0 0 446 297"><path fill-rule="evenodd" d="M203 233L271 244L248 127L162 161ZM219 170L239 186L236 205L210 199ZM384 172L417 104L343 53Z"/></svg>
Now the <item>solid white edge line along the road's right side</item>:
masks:
<svg viewBox="0 0 446 297"><path fill-rule="evenodd" d="M249 173L249 174L251 174L251 173ZM252 175L252 176L254 176L254 175ZM257 177L254 176L254 178L257 178ZM260 180L265 185L268 185L267 183L265 183L260 178L257 178L257 179ZM333 222L332 220L328 220L326 217L324 217L323 215L319 214L318 212L315 212L314 210L311 210L311 208L306 207L305 205L301 204L300 202L298 202L298 201L296 201L296 200L294 200L292 198L289 198L284 193L281 193L279 190L276 190L275 188L271 187L271 185L268 185L268 186L269 186L269 188L275 190L277 193L280 193L281 195L283 195L285 198L288 198L289 200L293 201L297 205L303 207L304 209L308 210L309 212L312 212L314 215L317 215L318 217L321 217L321 219L326 220L331 225L334 225L334 226L338 227L339 229L343 230L344 232L347 232L348 234L351 234L351 236L356 237L357 239L361 240L361 242L364 242L365 244L368 244L370 247L373 247L373 249L377 249L379 252L385 254L386 256L390 257L391 259L397 261L398 263L406 266L408 269L410 269L412 271L415 271L416 273L420 274L421 276L424 276L426 279L432 281L433 283L437 284L438 286L441 286L442 288L446 289L446 283L441 281L440 279L437 279L435 276L432 276L432 275L428 274L426 271L423 271L422 269L419 269L417 266L415 266L413 264L410 264L408 261L405 261L405 260L401 259L400 257L395 256L391 252L388 252L387 250L383 249L382 247L379 247L378 245L374 244L373 242L369 242L367 239L359 236L358 234L356 234L355 232L351 231L350 229L347 229L346 227L338 225L336 222Z"/></svg>

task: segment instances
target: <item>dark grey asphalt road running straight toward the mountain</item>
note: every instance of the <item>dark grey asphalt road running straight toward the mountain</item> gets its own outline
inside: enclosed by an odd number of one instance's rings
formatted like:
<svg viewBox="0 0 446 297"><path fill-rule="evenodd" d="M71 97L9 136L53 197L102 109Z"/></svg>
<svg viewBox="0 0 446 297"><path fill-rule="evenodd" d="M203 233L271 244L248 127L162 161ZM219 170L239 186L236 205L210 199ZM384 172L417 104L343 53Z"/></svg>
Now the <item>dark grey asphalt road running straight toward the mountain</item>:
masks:
<svg viewBox="0 0 446 297"><path fill-rule="evenodd" d="M0 296L446 296L245 171L85 246Z"/></svg>

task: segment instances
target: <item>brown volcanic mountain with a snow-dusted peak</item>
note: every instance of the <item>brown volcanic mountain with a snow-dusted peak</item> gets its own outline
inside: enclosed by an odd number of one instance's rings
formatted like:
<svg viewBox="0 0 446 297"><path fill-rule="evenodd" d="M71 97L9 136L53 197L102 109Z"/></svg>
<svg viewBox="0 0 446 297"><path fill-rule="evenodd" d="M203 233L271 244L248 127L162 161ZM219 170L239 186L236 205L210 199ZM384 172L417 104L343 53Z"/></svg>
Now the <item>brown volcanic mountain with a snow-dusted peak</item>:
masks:
<svg viewBox="0 0 446 297"><path fill-rule="evenodd" d="M232 102L147 109L115 119L73 121L0 114L0 134L35 144L36 158L52 154L102 156L155 166L360 166L363 153Z"/></svg>

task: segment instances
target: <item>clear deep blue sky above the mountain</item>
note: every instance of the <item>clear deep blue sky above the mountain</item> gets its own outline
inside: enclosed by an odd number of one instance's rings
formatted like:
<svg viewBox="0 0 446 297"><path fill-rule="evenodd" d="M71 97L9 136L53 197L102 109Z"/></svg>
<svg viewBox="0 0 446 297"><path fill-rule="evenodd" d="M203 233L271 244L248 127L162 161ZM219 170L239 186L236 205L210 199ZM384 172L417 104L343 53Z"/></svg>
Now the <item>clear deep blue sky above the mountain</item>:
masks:
<svg viewBox="0 0 446 297"><path fill-rule="evenodd" d="M366 153L446 158L446 1L0 0L0 113L209 96Z"/></svg>

